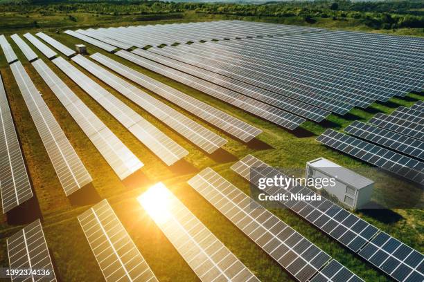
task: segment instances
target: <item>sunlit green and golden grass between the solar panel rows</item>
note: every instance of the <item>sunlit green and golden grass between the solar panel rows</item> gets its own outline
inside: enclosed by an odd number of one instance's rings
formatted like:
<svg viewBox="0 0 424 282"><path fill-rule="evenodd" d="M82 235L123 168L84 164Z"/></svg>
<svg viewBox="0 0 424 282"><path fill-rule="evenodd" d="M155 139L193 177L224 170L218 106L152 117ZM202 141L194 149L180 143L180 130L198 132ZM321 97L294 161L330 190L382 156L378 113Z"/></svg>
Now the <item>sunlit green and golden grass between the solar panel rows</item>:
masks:
<svg viewBox="0 0 424 282"><path fill-rule="evenodd" d="M215 17L208 19L213 18ZM121 22L116 21L116 19L112 17L108 22L105 21L105 18L101 20L102 25L109 26L118 24L125 25L127 23L135 24L131 22L130 18L124 18ZM182 21L186 20L189 19L182 19ZM19 21L19 19L11 19L10 22L12 21ZM38 21L41 23L41 20L37 20L37 22ZM53 22L54 20L50 19L49 21ZM87 19L87 22L81 22L87 26L93 25L92 19ZM22 24L22 28L28 28L33 31L40 29L36 27L32 29L30 26L25 26L25 21L22 21ZM72 23L69 23L69 26L72 26ZM49 26L48 28L53 30L55 28L65 27L67 26ZM26 31L27 30L19 33L25 33ZM8 33L12 33L12 30ZM71 48L73 48L74 44L80 43L78 39L74 39L63 33L56 34L51 31L46 33ZM26 39L24 40L26 41ZM12 44L12 41L9 41ZM28 41L27 43L30 45ZM220 212L214 209L202 198L202 196L197 194L196 191L186 184L186 180L195 175L195 172L173 171L166 167L166 165L158 160L143 144L138 142L134 136L121 126L121 124L103 110L99 104L91 99L89 95L82 91L82 89L74 84L71 79L56 68L53 63L49 62L48 59L33 48L39 57L41 57L48 66L53 68L55 73L75 91L78 97L80 97L80 99L85 102L85 104L87 104L87 106L89 106L89 108L94 111L114 133L116 133L118 138L123 140L127 147L144 162L145 167L141 169L143 176L140 176L138 179L138 185L135 187L126 187L123 185L123 182L117 178L107 162L100 156L100 153L96 151L95 147L80 130L76 122L73 121L69 113L67 113L62 104L60 104L59 100L51 92L48 86L44 84L41 77L37 75L33 66L26 61L19 51L19 48L17 48L15 44L12 44L12 46L30 77L35 82L35 85L42 93L49 109L51 109L53 115L64 130L64 133L76 149L78 156L80 156L82 162L93 177L93 185L96 194L87 197L87 201L96 203L100 198L107 198L107 200L109 200L109 203L114 208L114 211L127 229L127 232L134 240L134 243L139 248L146 261L148 261L150 267L152 267L153 272L157 274L160 281L198 281L198 279L181 256L177 254L173 246L167 241L164 234L160 232L148 215L145 214L139 203L136 202L136 196L139 196L145 189L150 187L150 185L158 181L164 182L167 187L173 191L175 196L177 196L177 198L179 198L179 200L181 200L182 203L184 203L184 205L206 225L206 227L211 229L211 232L213 232L224 245L229 247L229 249L240 258L242 263L245 263L259 279L262 281L292 281L290 276L288 276L277 263L270 259L265 252L260 250L259 247L256 247L249 238L244 236L242 232L224 218ZM145 73L154 79L173 86L188 95L192 95L199 100L216 106L218 109L222 109L241 120L259 127L263 130L263 133L258 136L258 139L269 144L272 149L253 149L248 147L246 144L234 140L228 135L224 135L221 131L218 131L212 126L209 126L209 124L183 111L184 114L188 115L196 122L199 122L211 131L227 138L229 142L224 146L224 149L233 156L236 156L236 158L242 158L248 153L251 153L261 160L279 167L303 168L308 160L325 157L343 166L368 168L369 166L364 162L354 160L353 158L344 156L337 151L322 146L315 138L317 138L319 133L325 131L326 128L343 129L353 120L368 120L375 113L390 113L394 111L397 106L411 106L416 100L424 99L422 95L409 94L405 99L396 98L385 104L373 104L366 111L353 109L346 117L331 115L328 121L322 122L321 124L306 122L302 127L312 134L308 137L298 137L290 131L286 131L279 128L279 126L255 118L233 106L229 106L204 93L195 91L193 88L189 88L188 86L174 82L172 79L145 70L116 55L105 53L95 46L87 44L87 48L91 54L96 52L103 53L104 55L116 59L118 62L131 66L141 73ZM42 140L39 138L26 108L26 104L24 103L21 93L17 88L17 84L15 83L15 79L3 56L0 57L0 71L6 86L13 117L17 124L24 155L28 162L30 177L33 180L33 187L37 196L39 208L41 209L44 219L44 232L48 246L51 250L51 255L53 256L56 274L60 277L61 281L103 281L103 276L76 218L76 216L89 208L90 205L71 205L69 199L64 195L60 182L55 176L53 167L48 160ZM83 72L89 75L87 72ZM188 149L190 154L186 157L186 160L191 164L193 169L201 170L205 167L212 167L215 171L221 173L224 178L227 178L234 185L242 189L242 191L246 193L249 192L249 184L247 181L229 169L233 162L222 162L214 160L210 156L206 156L200 149L197 149L197 147L194 147L193 144L184 140L184 138L177 135L177 133L167 126L152 118L152 116L116 93L112 88L109 88L106 84L103 84L91 75L89 75L89 77L92 77L110 93L116 95L116 97L125 102L125 104L131 106L134 111L141 114L161 131L173 138L173 140ZM166 102L154 93L147 90L145 91L173 108L178 109L176 106ZM181 109L179 109L179 111L181 111ZM376 177L389 177L389 180L393 181L393 185L389 186L377 183L373 194L373 200L376 203L381 205L394 205L395 203L407 205L411 198L422 198L421 190L418 185L410 184L404 185L404 188L397 188L396 183L399 181L397 178L387 175L382 176L382 173L376 173ZM414 196L407 194L408 191ZM339 243L335 242L332 238L317 231L315 227L312 227L310 224L306 223L305 220L294 215L292 212L281 209L273 209L272 212L366 281L389 281L381 272L375 270L371 265L364 263L359 256L352 254L342 247L342 245L339 245ZM424 212L422 209L381 209L378 211L362 211L358 212L358 214L361 218L364 218L369 223L376 225L392 236L399 238L407 245L421 252L424 251L422 245ZM1 266L6 267L8 265L6 238L17 232L21 227L23 227L23 225L9 225L6 216L1 218Z"/></svg>

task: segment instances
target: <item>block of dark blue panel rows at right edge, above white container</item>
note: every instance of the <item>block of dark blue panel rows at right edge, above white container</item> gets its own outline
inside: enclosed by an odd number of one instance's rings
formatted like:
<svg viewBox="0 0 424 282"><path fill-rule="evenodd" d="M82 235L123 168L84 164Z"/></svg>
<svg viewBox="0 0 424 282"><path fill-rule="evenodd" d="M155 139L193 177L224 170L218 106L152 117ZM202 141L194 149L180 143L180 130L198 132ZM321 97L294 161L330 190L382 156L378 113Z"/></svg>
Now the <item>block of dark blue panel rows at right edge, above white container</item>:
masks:
<svg viewBox="0 0 424 282"><path fill-rule="evenodd" d="M328 129L317 140L351 156L424 184L424 107L378 113L369 123L353 122L344 131ZM406 155L406 156L404 156Z"/></svg>

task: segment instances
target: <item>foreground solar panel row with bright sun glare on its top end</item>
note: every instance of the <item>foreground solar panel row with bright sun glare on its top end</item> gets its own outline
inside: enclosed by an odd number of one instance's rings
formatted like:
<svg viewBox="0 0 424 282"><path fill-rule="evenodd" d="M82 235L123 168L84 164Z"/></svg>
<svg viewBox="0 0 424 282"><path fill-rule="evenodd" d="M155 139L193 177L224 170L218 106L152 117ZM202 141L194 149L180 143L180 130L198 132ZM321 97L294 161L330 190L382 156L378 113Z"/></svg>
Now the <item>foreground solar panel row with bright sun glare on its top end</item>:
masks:
<svg viewBox="0 0 424 282"><path fill-rule="evenodd" d="M201 281L259 281L161 182L137 199Z"/></svg>

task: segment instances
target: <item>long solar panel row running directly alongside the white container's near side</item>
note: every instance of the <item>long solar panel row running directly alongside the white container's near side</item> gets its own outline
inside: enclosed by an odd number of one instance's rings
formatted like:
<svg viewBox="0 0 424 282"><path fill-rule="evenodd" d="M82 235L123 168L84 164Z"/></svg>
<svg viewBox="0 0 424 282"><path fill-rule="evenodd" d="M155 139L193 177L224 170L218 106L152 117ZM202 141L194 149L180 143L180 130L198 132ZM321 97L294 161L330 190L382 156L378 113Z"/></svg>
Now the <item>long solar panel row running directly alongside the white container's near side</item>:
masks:
<svg viewBox="0 0 424 282"><path fill-rule="evenodd" d="M231 169L254 184L258 180L256 178L287 177L251 155L233 164ZM251 179L252 171L255 173L254 179ZM315 194L314 191L301 186L289 187L287 190L281 187L268 187L263 191L269 195L300 193L312 196ZM289 200L281 201L281 203L397 281L423 281L423 254L330 200L321 197L321 200L316 201ZM315 281L323 280L317 278Z"/></svg>

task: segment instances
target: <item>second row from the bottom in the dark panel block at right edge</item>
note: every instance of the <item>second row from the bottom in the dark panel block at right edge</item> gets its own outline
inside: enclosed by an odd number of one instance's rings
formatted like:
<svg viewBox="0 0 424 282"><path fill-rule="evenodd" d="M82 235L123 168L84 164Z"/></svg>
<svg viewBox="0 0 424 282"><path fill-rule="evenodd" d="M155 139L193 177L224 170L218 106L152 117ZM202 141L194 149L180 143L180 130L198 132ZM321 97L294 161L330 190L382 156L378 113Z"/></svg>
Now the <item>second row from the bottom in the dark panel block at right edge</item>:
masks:
<svg viewBox="0 0 424 282"><path fill-rule="evenodd" d="M424 160L424 142L380 127L355 121L345 132L384 147Z"/></svg>

